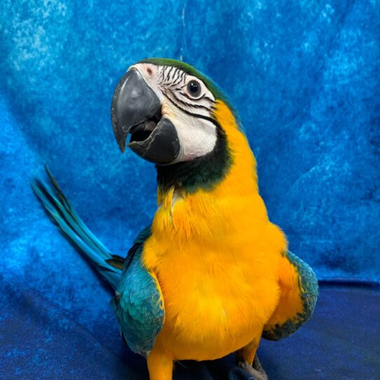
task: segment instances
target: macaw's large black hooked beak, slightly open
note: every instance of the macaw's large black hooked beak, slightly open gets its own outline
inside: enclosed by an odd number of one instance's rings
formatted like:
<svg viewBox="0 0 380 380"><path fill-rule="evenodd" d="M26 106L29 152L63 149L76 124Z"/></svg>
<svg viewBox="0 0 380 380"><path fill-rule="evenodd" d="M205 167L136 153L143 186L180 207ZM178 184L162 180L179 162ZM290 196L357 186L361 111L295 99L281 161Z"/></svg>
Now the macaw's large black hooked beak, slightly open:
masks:
<svg viewBox="0 0 380 380"><path fill-rule="evenodd" d="M128 147L140 157L168 164L179 154L175 126L161 116L161 102L137 69L130 69L116 86L111 107L112 127L121 151Z"/></svg>

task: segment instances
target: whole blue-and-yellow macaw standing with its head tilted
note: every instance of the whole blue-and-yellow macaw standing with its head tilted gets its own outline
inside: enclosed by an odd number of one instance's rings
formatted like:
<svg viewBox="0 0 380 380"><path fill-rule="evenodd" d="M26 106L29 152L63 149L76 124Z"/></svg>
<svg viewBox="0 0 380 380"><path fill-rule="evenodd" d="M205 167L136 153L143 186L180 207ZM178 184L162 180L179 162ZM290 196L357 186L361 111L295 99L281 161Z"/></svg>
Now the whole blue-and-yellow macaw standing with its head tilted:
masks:
<svg viewBox="0 0 380 380"><path fill-rule="evenodd" d="M172 379L175 361L235 351L241 367L267 379L260 340L288 337L311 317L318 281L269 221L236 111L191 65L151 58L118 83L111 120L121 151L157 170L156 213L128 255L111 255L50 172L52 185L33 182L36 195L114 288L119 330L147 358L150 380Z"/></svg>

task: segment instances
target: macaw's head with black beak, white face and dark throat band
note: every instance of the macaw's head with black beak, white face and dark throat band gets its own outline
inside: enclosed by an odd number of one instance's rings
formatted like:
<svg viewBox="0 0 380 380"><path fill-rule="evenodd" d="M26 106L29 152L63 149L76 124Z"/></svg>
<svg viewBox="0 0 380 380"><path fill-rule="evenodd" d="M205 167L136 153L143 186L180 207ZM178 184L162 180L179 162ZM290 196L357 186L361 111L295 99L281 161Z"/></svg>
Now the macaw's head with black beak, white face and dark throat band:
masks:
<svg viewBox="0 0 380 380"><path fill-rule="evenodd" d="M208 187L226 174L233 157L222 120L229 117L221 116L221 105L238 125L226 97L194 67L163 58L142 60L114 91L116 142L121 151L127 146L155 163L158 182L161 177L166 183Z"/></svg>

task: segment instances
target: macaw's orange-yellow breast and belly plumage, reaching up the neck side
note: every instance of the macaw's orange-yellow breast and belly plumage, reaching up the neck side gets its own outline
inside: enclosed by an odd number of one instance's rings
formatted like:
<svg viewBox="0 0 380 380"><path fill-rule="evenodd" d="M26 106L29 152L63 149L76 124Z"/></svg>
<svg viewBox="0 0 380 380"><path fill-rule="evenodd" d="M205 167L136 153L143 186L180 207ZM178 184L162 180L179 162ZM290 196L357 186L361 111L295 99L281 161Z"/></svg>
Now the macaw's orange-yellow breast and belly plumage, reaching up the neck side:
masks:
<svg viewBox="0 0 380 380"><path fill-rule="evenodd" d="M283 233L257 190L255 158L228 107L217 104L233 164L212 191L158 194L143 262L158 278L165 323L156 344L175 360L212 360L248 344L280 297Z"/></svg>

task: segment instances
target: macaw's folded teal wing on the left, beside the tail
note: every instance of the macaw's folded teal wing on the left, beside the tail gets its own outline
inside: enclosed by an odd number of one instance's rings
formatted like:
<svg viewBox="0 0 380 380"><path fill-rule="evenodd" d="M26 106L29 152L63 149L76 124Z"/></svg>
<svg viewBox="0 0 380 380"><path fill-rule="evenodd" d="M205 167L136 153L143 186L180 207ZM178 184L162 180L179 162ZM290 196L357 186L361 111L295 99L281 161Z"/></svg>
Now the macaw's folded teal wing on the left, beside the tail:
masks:
<svg viewBox="0 0 380 380"><path fill-rule="evenodd" d="M148 227L135 240L125 259L116 296L111 300L123 339L132 351L144 356L153 348L165 318L158 280L142 265L144 241L150 234Z"/></svg>

